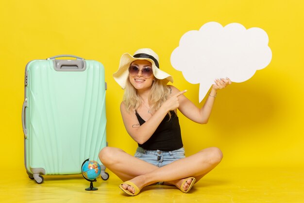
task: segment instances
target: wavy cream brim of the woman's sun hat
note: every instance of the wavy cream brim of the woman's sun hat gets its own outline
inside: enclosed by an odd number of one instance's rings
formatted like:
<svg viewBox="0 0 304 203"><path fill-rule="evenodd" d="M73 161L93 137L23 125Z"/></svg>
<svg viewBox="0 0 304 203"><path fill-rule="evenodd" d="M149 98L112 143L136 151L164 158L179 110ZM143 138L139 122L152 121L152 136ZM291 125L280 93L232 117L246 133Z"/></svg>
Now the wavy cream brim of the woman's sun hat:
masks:
<svg viewBox="0 0 304 203"><path fill-rule="evenodd" d="M132 55L125 53L120 57L118 71L113 74L115 81L121 86L122 89L126 88L126 80L129 77L129 66L135 60L147 60L152 64L152 71L154 77L160 80L166 80L166 83L172 82L173 77L166 72L156 67L155 62L151 58L135 58Z"/></svg>

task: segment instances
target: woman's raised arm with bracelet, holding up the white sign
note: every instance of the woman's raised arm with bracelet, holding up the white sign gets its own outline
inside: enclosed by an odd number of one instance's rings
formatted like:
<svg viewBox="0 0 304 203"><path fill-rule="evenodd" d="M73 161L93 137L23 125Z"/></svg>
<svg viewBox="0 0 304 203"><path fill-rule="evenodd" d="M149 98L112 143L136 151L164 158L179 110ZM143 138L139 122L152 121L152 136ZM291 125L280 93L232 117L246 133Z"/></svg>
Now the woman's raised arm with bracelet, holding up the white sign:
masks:
<svg viewBox="0 0 304 203"><path fill-rule="evenodd" d="M191 102L185 95L181 95L179 97L179 111L181 111L187 118L194 122L206 124L209 120L211 110L215 101L215 96L217 95L217 91L231 84L231 80L228 78L220 80L217 79L215 83L216 84L212 86L208 98L206 99L201 109L195 106L193 102ZM177 88L173 86L171 86L171 88L173 93L179 92Z"/></svg>

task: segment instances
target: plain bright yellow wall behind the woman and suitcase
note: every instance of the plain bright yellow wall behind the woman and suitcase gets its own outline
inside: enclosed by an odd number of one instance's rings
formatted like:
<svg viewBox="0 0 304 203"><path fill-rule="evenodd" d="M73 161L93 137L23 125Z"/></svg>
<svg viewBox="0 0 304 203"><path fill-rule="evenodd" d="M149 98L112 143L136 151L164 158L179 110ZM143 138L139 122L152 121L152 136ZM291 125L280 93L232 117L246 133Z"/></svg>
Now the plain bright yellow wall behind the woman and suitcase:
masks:
<svg viewBox="0 0 304 203"><path fill-rule="evenodd" d="M119 112L123 91L112 77L120 56L152 48L173 85L187 89L186 96L201 107L199 85L189 84L172 68L170 54L183 34L209 21L264 29L272 60L250 80L218 92L207 125L180 114L186 155L216 146L224 153L219 167L303 167L303 10L301 0L1 1L1 168L7 166L4 160L24 167L21 107L28 61L71 54L103 63L107 141L133 154L136 143Z"/></svg>

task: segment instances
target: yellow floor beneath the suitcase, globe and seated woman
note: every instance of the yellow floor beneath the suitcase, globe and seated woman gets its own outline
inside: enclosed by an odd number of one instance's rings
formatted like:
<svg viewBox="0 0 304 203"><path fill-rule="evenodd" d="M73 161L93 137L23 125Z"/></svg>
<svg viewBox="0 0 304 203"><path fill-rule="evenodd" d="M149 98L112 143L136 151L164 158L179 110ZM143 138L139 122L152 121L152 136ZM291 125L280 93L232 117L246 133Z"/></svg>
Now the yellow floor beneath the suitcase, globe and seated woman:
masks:
<svg viewBox="0 0 304 203"><path fill-rule="evenodd" d="M152 185L129 197L121 181L98 178L97 191L81 175L44 176L36 184L25 169L1 171L0 203L304 203L304 168L216 168L185 194L173 186Z"/></svg>

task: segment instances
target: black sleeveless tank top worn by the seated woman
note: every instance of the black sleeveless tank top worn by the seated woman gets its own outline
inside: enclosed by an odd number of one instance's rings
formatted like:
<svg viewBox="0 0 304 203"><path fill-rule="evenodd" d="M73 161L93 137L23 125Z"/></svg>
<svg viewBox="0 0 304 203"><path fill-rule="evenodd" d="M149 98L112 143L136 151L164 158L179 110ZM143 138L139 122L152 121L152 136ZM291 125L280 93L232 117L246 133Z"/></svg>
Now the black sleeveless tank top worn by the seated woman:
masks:
<svg viewBox="0 0 304 203"><path fill-rule="evenodd" d="M181 128L178 117L174 111L170 111L165 116L162 122L159 124L155 132L152 134L149 140L144 144L138 144L139 147L147 150L161 150L161 151L173 151L183 147L183 141L181 136ZM139 124L145 123L145 120L135 111Z"/></svg>

